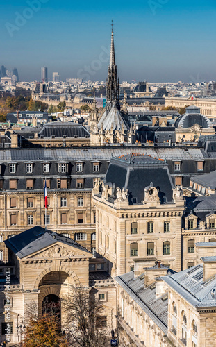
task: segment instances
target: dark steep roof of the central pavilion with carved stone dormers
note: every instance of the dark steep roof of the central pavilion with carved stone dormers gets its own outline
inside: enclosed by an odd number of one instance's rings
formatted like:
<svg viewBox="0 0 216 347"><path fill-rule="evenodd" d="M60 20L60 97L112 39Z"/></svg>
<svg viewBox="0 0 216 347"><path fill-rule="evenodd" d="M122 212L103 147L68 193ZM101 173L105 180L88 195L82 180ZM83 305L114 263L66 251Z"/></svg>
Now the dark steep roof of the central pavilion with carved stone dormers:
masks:
<svg viewBox="0 0 216 347"><path fill-rule="evenodd" d="M163 202L166 196L167 202L172 202L173 183L169 175L168 165L164 160L151 158L148 155L125 155L110 160L106 174L106 182L115 183L115 187L128 189L128 201L133 205L133 198L141 203L144 199L144 188L153 187L159 189L158 196Z"/></svg>

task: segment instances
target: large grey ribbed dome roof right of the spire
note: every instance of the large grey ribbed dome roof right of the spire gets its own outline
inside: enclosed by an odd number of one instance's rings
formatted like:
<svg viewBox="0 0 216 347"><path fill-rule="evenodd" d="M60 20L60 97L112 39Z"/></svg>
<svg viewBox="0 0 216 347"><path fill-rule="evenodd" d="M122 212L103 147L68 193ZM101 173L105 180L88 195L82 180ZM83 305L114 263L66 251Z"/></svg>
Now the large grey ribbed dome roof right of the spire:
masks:
<svg viewBox="0 0 216 347"><path fill-rule="evenodd" d="M212 128L210 120L200 113L200 108L190 106L186 108L186 113L178 117L174 123L175 128L191 128L195 124L201 128Z"/></svg>

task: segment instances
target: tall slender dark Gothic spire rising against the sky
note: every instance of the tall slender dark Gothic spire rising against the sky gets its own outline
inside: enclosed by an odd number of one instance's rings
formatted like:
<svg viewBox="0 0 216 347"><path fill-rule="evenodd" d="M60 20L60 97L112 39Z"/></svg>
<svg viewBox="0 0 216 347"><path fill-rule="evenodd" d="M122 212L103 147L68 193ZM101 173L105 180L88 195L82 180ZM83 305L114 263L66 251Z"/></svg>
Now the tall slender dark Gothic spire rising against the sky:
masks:
<svg viewBox="0 0 216 347"><path fill-rule="evenodd" d="M115 64L115 46L114 46L114 33L112 21L111 33L111 48L110 48L110 65L108 67L108 81L107 81L107 101L112 107L114 104L119 108L119 78L117 76L117 66Z"/></svg>

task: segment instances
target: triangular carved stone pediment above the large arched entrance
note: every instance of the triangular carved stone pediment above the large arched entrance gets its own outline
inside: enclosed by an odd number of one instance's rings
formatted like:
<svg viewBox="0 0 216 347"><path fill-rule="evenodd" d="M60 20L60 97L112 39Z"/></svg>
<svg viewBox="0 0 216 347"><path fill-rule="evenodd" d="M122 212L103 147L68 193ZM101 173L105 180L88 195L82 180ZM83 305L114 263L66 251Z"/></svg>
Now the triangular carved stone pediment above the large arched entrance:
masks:
<svg viewBox="0 0 216 347"><path fill-rule="evenodd" d="M31 255L28 255L22 260L61 260L61 259L71 259L74 258L92 258L92 254L88 253L88 251L79 250L73 246L65 246L57 242L55 245L49 246L48 248L44 248L38 252L35 252Z"/></svg>

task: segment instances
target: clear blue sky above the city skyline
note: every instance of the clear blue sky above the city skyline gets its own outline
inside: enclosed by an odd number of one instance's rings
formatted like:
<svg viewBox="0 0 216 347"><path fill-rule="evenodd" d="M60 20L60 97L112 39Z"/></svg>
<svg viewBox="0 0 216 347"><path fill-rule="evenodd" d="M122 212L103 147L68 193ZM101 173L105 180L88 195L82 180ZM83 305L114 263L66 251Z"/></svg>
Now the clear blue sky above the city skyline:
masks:
<svg viewBox="0 0 216 347"><path fill-rule="evenodd" d="M0 65L22 81L105 81L112 19L120 81L216 80L215 0L8 0L0 17Z"/></svg>

